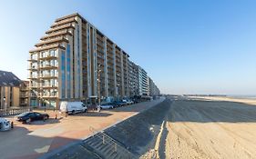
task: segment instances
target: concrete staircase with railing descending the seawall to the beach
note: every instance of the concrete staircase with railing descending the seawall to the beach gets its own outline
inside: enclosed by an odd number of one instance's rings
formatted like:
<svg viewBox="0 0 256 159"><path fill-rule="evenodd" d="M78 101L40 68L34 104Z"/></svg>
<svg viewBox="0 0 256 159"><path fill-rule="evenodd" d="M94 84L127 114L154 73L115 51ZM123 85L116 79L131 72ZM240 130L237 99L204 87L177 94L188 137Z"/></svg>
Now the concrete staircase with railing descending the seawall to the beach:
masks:
<svg viewBox="0 0 256 159"><path fill-rule="evenodd" d="M94 152L103 159L134 159L138 158L135 154L131 154L125 146L118 144L108 134L97 132L93 127L90 127L93 135L83 141L82 146L87 150Z"/></svg>

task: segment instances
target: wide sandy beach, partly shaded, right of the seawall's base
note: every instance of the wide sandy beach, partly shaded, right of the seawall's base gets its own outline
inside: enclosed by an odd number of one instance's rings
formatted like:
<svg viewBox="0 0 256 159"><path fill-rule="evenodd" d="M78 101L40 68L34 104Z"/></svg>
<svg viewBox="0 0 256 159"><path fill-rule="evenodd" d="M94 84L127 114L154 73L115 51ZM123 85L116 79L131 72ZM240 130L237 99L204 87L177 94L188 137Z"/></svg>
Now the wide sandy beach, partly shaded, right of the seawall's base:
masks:
<svg viewBox="0 0 256 159"><path fill-rule="evenodd" d="M171 105L160 158L256 158L255 101L210 100L179 99Z"/></svg>

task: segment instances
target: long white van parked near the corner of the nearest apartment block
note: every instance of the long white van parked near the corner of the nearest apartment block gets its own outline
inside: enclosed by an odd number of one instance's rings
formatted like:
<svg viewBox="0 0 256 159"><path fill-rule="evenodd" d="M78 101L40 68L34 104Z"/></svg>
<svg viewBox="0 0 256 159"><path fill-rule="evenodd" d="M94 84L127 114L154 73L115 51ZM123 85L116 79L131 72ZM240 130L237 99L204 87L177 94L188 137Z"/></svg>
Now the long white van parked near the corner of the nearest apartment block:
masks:
<svg viewBox="0 0 256 159"><path fill-rule="evenodd" d="M59 110L61 113L76 114L87 112L87 106L82 102L60 102Z"/></svg>

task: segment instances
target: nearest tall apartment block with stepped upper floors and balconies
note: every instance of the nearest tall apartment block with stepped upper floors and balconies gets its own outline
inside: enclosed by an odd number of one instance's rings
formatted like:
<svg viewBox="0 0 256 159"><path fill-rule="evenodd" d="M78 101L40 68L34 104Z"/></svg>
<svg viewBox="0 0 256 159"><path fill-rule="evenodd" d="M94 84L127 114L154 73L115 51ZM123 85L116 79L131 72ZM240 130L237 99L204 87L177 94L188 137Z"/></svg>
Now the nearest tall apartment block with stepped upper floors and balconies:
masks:
<svg viewBox="0 0 256 159"><path fill-rule="evenodd" d="M128 57L81 15L56 19L29 51L30 104L128 96Z"/></svg>

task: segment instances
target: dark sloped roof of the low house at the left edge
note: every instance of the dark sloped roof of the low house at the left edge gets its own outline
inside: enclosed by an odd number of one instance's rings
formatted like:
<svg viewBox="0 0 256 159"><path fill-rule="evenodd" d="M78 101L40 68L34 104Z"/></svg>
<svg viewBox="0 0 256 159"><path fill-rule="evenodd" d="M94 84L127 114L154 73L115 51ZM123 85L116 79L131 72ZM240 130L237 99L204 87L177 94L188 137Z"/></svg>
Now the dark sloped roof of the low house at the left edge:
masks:
<svg viewBox="0 0 256 159"><path fill-rule="evenodd" d="M19 86L21 82L13 73L0 70L0 86Z"/></svg>

